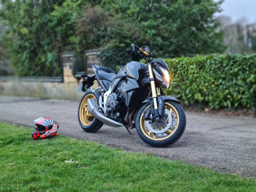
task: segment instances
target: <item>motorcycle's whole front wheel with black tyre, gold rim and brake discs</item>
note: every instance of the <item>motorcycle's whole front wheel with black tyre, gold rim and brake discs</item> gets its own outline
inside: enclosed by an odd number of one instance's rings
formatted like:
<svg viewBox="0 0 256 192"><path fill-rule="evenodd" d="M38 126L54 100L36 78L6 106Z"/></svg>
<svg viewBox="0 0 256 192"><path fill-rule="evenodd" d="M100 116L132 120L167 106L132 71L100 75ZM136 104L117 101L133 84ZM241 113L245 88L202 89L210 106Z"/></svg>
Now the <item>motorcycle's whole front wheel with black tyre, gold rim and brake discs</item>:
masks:
<svg viewBox="0 0 256 192"><path fill-rule="evenodd" d="M143 105L136 117L136 130L139 137L147 144L163 147L174 144L185 131L186 116L177 102L166 100L164 114L160 122L145 120L144 114L150 105Z"/></svg>

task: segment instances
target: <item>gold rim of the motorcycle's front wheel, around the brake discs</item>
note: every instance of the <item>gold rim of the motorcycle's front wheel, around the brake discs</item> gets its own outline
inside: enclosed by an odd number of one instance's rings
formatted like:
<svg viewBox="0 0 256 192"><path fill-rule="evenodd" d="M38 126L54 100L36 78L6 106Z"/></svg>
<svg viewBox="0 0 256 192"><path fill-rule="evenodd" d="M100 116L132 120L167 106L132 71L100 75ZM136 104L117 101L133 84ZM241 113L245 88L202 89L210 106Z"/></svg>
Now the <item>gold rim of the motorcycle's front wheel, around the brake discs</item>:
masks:
<svg viewBox="0 0 256 192"><path fill-rule="evenodd" d="M147 110L148 108L150 108L150 105L148 105L145 110ZM175 118L175 123L174 123L175 125L173 126L173 124L172 124L170 126L170 128L164 132L165 134L167 134L165 137L158 137L155 133L148 130L148 128L146 127L146 125L145 125L146 120L143 119L143 114L144 114L144 112L143 112L140 115L140 127L141 127L142 133L147 138L150 138L155 141L161 141L161 140L165 140L165 139L171 137L176 132L176 130L179 126L179 120L180 120L178 111L175 109L175 107L172 104L167 103L167 102L164 102L164 108L167 109L170 112L170 114L172 114L173 118Z"/></svg>

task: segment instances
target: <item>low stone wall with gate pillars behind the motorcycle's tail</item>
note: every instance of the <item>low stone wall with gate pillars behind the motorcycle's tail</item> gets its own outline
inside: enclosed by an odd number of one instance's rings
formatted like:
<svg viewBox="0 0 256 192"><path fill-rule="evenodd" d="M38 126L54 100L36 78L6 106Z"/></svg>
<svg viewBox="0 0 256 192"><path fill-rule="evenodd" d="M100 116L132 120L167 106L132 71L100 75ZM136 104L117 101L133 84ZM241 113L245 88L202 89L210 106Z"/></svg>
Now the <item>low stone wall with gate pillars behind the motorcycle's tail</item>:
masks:
<svg viewBox="0 0 256 192"><path fill-rule="evenodd" d="M97 65L95 57L95 54L88 55L90 65L92 62ZM0 94L80 100L84 93L77 92L77 88L83 79L74 77L75 58L68 55L62 59L62 77L0 77ZM88 75L92 75L90 68L91 66L88 67ZM96 82L93 88L97 86Z"/></svg>

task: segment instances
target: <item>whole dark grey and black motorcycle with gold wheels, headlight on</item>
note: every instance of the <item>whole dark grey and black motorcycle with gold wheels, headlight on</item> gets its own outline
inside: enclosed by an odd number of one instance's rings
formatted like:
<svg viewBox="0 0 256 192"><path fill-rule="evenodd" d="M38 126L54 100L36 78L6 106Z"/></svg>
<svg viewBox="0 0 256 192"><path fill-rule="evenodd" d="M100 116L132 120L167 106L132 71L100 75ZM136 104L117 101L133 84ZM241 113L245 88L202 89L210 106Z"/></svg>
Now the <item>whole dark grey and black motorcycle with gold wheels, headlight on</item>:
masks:
<svg viewBox="0 0 256 192"><path fill-rule="evenodd" d="M78 121L86 132L96 132L103 124L129 129L136 127L139 137L153 146L175 143L186 127L186 116L180 101L163 95L169 87L166 63L154 60L149 47L132 45L145 64L132 61L115 74L109 68L93 66L94 75L82 75L81 91L86 94L78 108ZM97 80L100 87L89 89Z"/></svg>

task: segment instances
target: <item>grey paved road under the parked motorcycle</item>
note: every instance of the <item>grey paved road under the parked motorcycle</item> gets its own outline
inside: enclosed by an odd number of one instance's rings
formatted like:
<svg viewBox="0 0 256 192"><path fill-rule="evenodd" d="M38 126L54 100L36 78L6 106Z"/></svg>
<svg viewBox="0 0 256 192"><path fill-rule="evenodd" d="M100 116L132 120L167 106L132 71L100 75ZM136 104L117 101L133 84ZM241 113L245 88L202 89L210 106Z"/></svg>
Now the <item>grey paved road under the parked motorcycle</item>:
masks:
<svg viewBox="0 0 256 192"><path fill-rule="evenodd" d="M103 126L97 133L84 132L77 120L78 102L0 95L0 121L33 126L39 117L52 117L59 134L96 141L125 151L147 152L169 160L211 167L222 173L256 178L256 119L186 112L187 126L181 139L167 148L145 144L136 129Z"/></svg>

